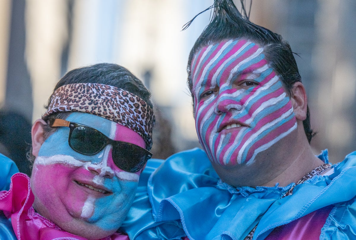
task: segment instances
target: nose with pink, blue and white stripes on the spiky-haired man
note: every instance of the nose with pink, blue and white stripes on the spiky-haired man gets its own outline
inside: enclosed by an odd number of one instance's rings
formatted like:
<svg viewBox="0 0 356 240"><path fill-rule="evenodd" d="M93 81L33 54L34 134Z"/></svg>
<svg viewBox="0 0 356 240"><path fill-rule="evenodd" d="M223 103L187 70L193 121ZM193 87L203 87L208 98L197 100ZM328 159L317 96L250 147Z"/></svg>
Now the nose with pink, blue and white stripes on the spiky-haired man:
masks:
<svg viewBox="0 0 356 240"><path fill-rule="evenodd" d="M229 111L241 111L242 104L239 97L233 96L228 93L219 93L218 100L216 101L215 114L222 114Z"/></svg>

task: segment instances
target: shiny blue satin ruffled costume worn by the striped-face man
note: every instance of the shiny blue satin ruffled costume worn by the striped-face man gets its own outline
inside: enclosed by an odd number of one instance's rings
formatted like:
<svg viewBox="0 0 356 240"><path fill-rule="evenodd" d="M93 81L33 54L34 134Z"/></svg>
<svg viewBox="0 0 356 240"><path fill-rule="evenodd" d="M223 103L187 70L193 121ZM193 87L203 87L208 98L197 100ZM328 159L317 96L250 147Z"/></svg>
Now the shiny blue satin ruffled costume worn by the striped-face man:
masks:
<svg viewBox="0 0 356 240"><path fill-rule="evenodd" d="M328 163L327 150L318 156ZM153 172L145 169L122 228L133 239L262 240L278 226L330 206L320 239L356 239L356 152L294 187L231 187L219 180L205 152L192 149L169 157ZM147 176L151 176L148 178ZM147 185L146 185L147 181Z"/></svg>

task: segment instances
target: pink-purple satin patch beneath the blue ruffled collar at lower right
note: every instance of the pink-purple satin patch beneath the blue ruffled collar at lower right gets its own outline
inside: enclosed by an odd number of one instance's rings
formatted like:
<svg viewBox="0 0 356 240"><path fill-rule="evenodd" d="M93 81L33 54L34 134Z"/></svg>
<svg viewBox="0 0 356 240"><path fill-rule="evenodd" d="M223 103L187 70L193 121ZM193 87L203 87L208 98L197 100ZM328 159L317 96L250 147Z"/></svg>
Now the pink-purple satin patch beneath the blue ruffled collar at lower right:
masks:
<svg viewBox="0 0 356 240"><path fill-rule="evenodd" d="M319 240L333 206L326 206L286 225L275 228L265 240Z"/></svg>

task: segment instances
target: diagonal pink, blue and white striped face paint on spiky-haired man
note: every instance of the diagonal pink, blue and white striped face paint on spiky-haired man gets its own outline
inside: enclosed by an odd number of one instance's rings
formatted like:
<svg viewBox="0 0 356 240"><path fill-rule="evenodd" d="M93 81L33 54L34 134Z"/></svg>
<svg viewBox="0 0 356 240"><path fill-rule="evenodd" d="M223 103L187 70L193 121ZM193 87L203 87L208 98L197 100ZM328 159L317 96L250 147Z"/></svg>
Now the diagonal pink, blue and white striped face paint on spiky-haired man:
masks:
<svg viewBox="0 0 356 240"><path fill-rule="evenodd" d="M297 128L290 98L258 44L240 39L206 46L191 70L195 127L211 161L250 165Z"/></svg>

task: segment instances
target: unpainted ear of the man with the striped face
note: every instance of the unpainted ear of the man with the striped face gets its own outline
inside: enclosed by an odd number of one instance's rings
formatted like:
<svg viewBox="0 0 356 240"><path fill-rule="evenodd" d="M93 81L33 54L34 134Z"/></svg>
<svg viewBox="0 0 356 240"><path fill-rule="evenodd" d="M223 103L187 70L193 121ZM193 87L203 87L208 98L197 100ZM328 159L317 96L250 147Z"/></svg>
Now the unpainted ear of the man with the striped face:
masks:
<svg viewBox="0 0 356 240"><path fill-rule="evenodd" d="M294 115L297 120L305 120L307 118L308 99L302 82L294 83L290 100L292 101Z"/></svg>

